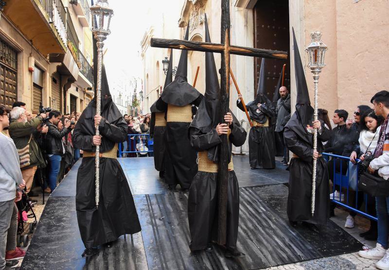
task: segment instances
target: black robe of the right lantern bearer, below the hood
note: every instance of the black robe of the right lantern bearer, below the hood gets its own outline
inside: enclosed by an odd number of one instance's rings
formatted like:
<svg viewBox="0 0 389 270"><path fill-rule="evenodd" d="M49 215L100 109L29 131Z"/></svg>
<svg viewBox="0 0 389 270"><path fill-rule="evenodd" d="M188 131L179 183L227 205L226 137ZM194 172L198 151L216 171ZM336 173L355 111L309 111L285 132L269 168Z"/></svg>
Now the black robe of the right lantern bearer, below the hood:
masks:
<svg viewBox="0 0 389 270"><path fill-rule="evenodd" d="M330 189L327 164L323 157L318 158L316 174L315 214L311 217L313 134L306 131L295 113L285 126L283 133L286 147L298 156L289 165L289 195L287 214L291 221L306 221L325 224L330 217ZM330 139L330 131L321 126L318 133L318 152L324 152L322 142Z"/></svg>

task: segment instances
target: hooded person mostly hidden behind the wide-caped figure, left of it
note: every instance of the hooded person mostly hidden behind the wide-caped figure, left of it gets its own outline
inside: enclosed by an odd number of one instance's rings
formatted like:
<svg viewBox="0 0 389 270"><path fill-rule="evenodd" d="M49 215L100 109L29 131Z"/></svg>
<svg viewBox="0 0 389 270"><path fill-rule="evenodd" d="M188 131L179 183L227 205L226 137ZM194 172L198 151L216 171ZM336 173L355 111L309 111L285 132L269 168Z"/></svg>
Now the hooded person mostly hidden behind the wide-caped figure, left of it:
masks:
<svg viewBox="0 0 389 270"><path fill-rule="evenodd" d="M167 69L165 85L166 88L173 81L173 50L170 53L169 67ZM157 109L157 101L150 107L151 122L150 122L150 137L154 140L154 167L159 171L159 177L164 177L165 164L164 157L166 154L165 131L166 119L165 112Z"/></svg>

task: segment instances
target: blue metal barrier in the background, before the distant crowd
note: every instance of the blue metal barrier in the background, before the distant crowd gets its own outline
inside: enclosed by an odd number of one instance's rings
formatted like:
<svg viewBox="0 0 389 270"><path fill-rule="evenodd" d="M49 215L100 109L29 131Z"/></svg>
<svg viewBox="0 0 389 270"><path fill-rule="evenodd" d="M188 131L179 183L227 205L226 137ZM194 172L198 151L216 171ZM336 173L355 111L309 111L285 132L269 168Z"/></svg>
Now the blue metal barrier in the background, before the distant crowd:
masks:
<svg viewBox="0 0 389 270"><path fill-rule="evenodd" d="M154 142L152 139L150 139L150 134L128 134L127 142L128 150L123 149L123 143L119 143L119 157L122 157L124 153L137 153L137 155L146 155L153 152Z"/></svg>

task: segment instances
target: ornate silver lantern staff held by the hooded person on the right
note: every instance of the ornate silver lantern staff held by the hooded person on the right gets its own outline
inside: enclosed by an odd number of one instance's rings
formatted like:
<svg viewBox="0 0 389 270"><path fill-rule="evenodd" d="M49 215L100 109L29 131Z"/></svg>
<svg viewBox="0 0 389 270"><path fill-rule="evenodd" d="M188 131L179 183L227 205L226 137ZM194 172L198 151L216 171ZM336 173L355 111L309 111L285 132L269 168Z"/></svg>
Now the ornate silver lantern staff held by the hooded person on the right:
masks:
<svg viewBox="0 0 389 270"><path fill-rule="evenodd" d="M312 32L311 33L311 44L305 49L308 53L308 67L311 69L313 82L315 84L315 113L314 120L318 119L318 83L319 83L319 74L321 69L325 67L324 64L324 55L325 51L327 51L327 46L321 41L321 33L320 32ZM317 151L318 149L318 130L314 130L313 135L313 149ZM311 214L312 217L315 213L315 195L316 195L316 167L317 160L313 161L313 169L312 169L312 197L311 197Z"/></svg>

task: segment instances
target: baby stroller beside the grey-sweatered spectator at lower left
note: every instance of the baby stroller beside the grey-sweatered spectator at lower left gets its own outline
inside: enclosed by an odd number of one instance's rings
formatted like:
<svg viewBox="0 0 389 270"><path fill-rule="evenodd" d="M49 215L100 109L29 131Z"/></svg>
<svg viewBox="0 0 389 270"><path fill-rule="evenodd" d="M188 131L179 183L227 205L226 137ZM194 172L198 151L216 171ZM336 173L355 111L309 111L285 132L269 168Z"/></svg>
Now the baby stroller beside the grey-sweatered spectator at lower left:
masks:
<svg viewBox="0 0 389 270"><path fill-rule="evenodd" d="M34 222L30 223L29 233L32 234L36 228L37 221L30 198L24 190L22 191L21 200L16 203L16 206L18 207L18 230L16 243L18 247L22 244L24 247L27 247L30 239L28 234L24 235L24 223L26 223L29 218L35 219ZM31 211L31 214L28 214L29 211Z"/></svg>

